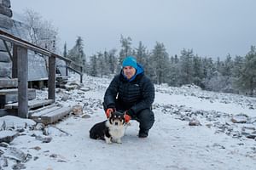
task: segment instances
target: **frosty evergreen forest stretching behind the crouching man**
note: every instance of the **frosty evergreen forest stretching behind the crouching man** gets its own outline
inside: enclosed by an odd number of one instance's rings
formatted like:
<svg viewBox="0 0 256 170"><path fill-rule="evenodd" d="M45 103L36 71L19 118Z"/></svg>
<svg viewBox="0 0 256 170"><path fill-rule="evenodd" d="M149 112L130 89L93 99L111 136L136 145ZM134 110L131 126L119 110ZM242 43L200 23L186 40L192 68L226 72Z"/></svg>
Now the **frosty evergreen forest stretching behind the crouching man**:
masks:
<svg viewBox="0 0 256 170"><path fill-rule="evenodd" d="M131 37L120 37L119 49L97 52L85 56L84 42L78 37L75 45L63 55L84 65L84 73L93 77L109 77L119 73L120 63L127 55L133 55L143 65L145 74L155 84L166 83L180 87L194 84L202 89L255 96L256 94L256 48L251 46L245 56L227 56L224 59L201 57L193 49L185 49L180 54L170 56L161 42L156 42L149 50L139 42L132 48Z"/></svg>

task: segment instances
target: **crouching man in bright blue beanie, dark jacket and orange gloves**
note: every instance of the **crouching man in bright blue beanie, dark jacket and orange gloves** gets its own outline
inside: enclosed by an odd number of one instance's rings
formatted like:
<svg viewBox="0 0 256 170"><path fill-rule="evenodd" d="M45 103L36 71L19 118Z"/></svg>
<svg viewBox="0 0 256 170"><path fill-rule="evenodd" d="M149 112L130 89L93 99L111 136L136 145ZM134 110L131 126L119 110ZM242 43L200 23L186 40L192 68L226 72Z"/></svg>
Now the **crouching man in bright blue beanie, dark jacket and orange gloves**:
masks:
<svg viewBox="0 0 256 170"><path fill-rule="evenodd" d="M113 111L125 112L125 122L139 122L139 138L147 138L154 124L154 84L144 75L143 66L133 56L122 63L121 72L113 77L104 95L104 110L108 117Z"/></svg>

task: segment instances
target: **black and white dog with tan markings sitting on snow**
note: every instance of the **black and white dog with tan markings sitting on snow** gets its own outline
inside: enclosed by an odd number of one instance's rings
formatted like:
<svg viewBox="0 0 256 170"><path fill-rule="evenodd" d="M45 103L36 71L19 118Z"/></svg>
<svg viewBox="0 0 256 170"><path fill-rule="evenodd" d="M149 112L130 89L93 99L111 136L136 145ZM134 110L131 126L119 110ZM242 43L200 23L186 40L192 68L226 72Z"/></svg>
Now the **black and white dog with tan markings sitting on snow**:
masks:
<svg viewBox="0 0 256 170"><path fill-rule="evenodd" d="M125 135L125 125L124 113L115 111L110 114L108 120L98 122L90 128L90 138L105 140L107 144L121 144L121 138Z"/></svg>

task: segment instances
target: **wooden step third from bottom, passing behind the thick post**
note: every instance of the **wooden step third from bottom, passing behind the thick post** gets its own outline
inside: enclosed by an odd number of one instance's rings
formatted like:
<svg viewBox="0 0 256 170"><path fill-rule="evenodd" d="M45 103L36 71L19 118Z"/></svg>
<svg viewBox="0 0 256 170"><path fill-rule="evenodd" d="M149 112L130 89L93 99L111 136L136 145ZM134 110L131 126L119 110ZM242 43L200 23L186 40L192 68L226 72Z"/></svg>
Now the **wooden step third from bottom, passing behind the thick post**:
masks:
<svg viewBox="0 0 256 170"><path fill-rule="evenodd" d="M28 88L27 98L36 99L36 89ZM18 88L0 89L0 105L15 103L18 101Z"/></svg>

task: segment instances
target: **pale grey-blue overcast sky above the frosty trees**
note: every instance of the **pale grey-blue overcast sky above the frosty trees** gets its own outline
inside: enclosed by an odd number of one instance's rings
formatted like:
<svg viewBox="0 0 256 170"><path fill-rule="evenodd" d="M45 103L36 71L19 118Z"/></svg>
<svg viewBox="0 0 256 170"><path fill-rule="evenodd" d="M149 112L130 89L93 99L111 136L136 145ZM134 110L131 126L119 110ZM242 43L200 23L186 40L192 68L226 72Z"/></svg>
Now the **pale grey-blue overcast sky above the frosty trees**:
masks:
<svg viewBox="0 0 256 170"><path fill-rule="evenodd" d="M120 35L168 54L193 48L201 57L244 56L256 45L255 0L11 0L12 10L33 9L52 21L61 43L84 39L87 55L120 48Z"/></svg>

